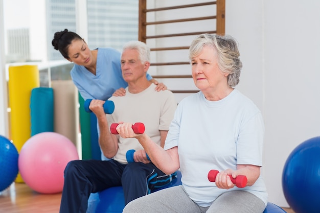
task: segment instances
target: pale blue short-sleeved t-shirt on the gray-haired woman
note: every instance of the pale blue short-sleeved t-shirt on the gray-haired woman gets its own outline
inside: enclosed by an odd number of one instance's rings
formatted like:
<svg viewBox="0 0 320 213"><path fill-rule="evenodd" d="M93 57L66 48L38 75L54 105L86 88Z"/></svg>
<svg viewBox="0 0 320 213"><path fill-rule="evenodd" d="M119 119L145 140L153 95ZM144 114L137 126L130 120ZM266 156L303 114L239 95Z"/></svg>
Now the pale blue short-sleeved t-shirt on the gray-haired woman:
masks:
<svg viewBox="0 0 320 213"><path fill-rule="evenodd" d="M237 164L262 166L264 124L260 110L234 89L220 101L208 101L202 92L182 100L175 112L164 149L178 147L182 185L200 206L227 190L208 180L210 170L237 169ZM239 190L238 187L231 190ZM260 176L253 186L241 188L267 203Z"/></svg>

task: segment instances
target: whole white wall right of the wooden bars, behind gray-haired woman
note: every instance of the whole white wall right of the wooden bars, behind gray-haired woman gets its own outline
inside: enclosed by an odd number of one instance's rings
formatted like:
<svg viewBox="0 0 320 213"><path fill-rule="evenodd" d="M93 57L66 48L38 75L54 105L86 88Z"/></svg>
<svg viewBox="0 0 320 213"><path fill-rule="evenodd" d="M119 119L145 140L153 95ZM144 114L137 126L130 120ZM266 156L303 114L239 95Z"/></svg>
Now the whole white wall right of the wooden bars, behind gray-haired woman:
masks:
<svg viewBox="0 0 320 213"><path fill-rule="evenodd" d="M238 39L244 64L238 89L264 115L269 201L284 207L284 163L296 146L320 135L319 9L311 0L226 0L226 33Z"/></svg>

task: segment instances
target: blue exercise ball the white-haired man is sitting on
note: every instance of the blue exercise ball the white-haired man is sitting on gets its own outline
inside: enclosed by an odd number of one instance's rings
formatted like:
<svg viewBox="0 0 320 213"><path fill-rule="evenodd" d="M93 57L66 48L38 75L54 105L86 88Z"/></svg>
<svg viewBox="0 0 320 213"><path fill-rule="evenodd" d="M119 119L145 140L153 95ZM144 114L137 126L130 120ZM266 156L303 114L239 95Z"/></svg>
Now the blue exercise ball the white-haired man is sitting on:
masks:
<svg viewBox="0 0 320 213"><path fill-rule="evenodd" d="M177 178L163 187L156 188L152 193L176 185L181 185L180 171L177 171ZM115 186L98 193L92 193L88 199L88 209L86 213L121 213L124 206L122 186Z"/></svg>

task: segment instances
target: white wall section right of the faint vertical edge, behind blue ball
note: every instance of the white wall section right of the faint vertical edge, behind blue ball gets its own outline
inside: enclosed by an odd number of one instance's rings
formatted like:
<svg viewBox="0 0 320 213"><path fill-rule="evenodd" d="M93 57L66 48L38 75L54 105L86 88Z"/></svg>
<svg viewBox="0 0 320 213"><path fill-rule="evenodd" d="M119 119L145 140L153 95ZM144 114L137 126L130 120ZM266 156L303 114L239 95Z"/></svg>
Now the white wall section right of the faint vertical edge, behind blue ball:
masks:
<svg viewBox="0 0 320 213"><path fill-rule="evenodd" d="M284 205L277 189L287 156L320 135L320 2L264 4L265 177L270 199Z"/></svg>

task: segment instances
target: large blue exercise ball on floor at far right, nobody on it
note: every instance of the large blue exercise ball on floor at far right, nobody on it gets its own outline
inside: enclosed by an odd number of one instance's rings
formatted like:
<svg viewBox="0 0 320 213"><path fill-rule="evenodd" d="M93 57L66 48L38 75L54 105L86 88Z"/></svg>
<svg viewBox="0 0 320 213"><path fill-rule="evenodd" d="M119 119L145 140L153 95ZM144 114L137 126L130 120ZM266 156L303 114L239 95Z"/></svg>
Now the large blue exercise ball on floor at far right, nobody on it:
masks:
<svg viewBox="0 0 320 213"><path fill-rule="evenodd" d="M320 136L304 141L290 153L282 188L294 212L320 212Z"/></svg>

